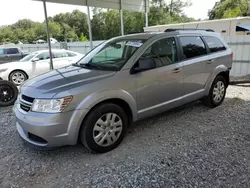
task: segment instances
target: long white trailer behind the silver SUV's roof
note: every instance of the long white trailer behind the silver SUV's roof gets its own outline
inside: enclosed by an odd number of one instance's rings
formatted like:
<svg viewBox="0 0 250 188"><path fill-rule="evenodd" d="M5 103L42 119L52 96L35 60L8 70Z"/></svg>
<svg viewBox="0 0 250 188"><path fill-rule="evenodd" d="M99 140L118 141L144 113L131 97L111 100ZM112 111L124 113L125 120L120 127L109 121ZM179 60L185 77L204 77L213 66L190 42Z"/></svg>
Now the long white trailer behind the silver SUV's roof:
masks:
<svg viewBox="0 0 250 188"><path fill-rule="evenodd" d="M220 20L196 21L180 24L167 24L145 27L145 32L165 31L171 28L197 28L213 29L224 36L234 36L238 34L248 34L250 30L250 17L238 17Z"/></svg>

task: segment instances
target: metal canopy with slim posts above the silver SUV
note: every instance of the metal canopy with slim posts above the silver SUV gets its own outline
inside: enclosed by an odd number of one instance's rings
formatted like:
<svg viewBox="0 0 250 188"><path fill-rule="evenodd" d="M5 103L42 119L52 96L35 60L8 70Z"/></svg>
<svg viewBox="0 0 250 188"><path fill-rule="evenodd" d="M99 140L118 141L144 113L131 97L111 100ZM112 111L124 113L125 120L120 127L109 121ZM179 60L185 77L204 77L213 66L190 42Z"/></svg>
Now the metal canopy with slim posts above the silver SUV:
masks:
<svg viewBox="0 0 250 188"><path fill-rule="evenodd" d="M91 19L90 19L89 7L100 7L100 8L120 10L121 35L124 35L123 10L129 10L129 11L135 11L135 12L145 12L145 21L146 21L145 26L148 27L149 0L33 0L33 1L42 1L43 2L45 22L46 22L47 40L48 40L49 53L50 53L50 68L51 69L53 69L53 60L52 60L52 51L51 51L51 42L50 42L50 33L49 33L49 26L48 26L49 24L48 24L46 2L87 6L89 40L90 40L91 49L93 48L93 41L92 41L92 30L91 30Z"/></svg>

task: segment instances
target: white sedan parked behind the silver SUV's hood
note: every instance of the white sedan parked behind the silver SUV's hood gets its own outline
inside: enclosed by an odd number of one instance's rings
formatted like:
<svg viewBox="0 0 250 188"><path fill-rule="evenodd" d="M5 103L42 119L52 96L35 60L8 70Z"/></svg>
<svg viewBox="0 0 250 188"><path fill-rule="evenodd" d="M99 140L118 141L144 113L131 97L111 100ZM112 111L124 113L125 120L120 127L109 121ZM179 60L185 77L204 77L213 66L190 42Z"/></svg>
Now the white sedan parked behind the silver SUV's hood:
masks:
<svg viewBox="0 0 250 188"><path fill-rule="evenodd" d="M68 50L52 50L54 69L69 66L79 61L84 55ZM50 71L48 50L33 52L17 62L0 65L0 80L9 80L21 85L25 80Z"/></svg>

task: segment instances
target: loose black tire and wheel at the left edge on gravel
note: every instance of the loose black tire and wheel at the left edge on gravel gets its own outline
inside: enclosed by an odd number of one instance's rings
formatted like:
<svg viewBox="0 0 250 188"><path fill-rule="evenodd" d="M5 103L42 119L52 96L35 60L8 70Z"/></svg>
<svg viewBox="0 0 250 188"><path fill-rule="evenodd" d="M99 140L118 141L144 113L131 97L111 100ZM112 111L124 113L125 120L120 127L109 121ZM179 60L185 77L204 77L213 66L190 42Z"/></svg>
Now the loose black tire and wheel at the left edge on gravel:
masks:
<svg viewBox="0 0 250 188"><path fill-rule="evenodd" d="M18 89L12 82L0 80L0 107L11 106L18 96Z"/></svg>

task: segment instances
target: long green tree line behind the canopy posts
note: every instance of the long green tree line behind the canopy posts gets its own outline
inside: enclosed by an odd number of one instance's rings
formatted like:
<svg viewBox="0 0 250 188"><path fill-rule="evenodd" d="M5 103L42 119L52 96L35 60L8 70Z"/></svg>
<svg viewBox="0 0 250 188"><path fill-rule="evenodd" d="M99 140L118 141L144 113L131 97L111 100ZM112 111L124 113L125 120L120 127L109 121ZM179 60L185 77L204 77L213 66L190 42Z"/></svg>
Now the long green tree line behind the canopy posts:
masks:
<svg viewBox="0 0 250 188"><path fill-rule="evenodd" d="M149 25L170 24L193 21L182 12L190 5L189 0L152 0L149 12ZM142 32L145 26L145 14L123 11L125 34ZM228 13L228 15L231 13ZM58 41L87 41L87 15L79 10L72 13L61 13L49 17L51 37ZM93 40L106 40L121 34L120 13L118 10L93 8L91 20ZM0 28L0 42L31 43L38 39L46 40L45 23L28 19Z"/></svg>

